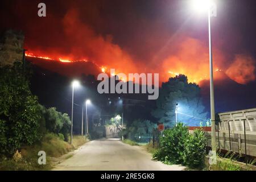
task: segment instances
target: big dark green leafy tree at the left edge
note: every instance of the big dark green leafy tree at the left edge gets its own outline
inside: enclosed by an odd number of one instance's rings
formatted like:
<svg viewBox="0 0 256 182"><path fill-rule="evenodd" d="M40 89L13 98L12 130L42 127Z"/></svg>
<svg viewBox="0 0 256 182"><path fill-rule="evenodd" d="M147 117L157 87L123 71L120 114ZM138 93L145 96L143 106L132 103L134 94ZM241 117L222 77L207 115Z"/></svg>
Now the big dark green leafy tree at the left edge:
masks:
<svg viewBox="0 0 256 182"><path fill-rule="evenodd" d="M0 68L0 152L12 155L21 144L40 139L40 107L21 63Z"/></svg>

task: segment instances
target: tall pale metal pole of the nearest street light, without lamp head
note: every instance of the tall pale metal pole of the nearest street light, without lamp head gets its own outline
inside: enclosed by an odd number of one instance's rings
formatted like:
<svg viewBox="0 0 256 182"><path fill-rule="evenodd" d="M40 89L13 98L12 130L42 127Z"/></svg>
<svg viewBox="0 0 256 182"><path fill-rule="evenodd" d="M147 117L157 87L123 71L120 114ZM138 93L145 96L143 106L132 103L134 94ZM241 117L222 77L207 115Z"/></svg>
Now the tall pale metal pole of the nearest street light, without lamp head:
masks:
<svg viewBox="0 0 256 182"><path fill-rule="evenodd" d="M209 64L210 64L210 120L212 130L212 152L216 153L216 133L215 133L215 109L214 109L214 87L213 87L213 63L212 63L212 35L210 28L210 9L208 10L209 28Z"/></svg>

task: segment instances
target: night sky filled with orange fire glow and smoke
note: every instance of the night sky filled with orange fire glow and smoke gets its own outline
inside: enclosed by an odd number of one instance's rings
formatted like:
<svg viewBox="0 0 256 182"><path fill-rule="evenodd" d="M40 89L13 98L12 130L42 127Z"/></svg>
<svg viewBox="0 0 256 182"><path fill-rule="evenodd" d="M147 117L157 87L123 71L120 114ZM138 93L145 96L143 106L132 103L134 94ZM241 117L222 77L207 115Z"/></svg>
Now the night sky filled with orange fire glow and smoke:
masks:
<svg viewBox="0 0 256 182"><path fill-rule="evenodd" d="M46 18L37 14L40 2L46 3ZM159 73L160 81L183 73L208 100L207 14L193 11L190 2L1 1L0 30L22 30L24 47L34 55L89 60L123 73ZM256 1L215 2L217 111L255 107Z"/></svg>

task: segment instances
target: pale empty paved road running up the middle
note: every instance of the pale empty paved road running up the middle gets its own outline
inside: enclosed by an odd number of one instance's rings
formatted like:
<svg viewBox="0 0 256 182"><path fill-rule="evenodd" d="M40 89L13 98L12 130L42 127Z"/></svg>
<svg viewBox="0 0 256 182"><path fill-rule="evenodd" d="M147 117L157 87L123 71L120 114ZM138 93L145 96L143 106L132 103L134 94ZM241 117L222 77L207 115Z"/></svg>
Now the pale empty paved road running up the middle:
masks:
<svg viewBox="0 0 256 182"><path fill-rule="evenodd" d="M130 146L117 139L93 140L53 170L97 170L97 171L180 171L185 167L166 165L151 160L151 154L139 146Z"/></svg>

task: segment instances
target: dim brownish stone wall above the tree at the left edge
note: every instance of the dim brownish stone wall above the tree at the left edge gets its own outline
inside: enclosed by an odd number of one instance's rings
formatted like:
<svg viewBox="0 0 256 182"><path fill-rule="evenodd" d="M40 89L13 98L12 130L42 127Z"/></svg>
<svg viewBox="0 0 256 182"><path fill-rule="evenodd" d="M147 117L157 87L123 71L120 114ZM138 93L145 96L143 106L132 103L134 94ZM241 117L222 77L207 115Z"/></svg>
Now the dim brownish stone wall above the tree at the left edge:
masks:
<svg viewBox="0 0 256 182"><path fill-rule="evenodd" d="M22 61L24 43L22 32L7 30L0 36L0 66Z"/></svg>

